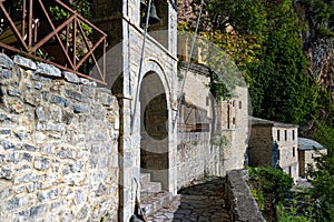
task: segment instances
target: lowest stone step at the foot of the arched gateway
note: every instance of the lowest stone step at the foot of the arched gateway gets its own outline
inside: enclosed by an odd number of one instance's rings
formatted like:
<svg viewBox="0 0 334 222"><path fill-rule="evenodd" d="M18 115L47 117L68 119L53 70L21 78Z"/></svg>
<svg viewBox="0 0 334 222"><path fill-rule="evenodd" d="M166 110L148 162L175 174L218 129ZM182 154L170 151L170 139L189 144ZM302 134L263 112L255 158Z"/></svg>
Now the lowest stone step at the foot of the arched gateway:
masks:
<svg viewBox="0 0 334 222"><path fill-rule="evenodd" d="M173 194L168 191L153 193L149 196L141 198L140 208L145 215L151 215L163 208L169 208L173 200Z"/></svg>

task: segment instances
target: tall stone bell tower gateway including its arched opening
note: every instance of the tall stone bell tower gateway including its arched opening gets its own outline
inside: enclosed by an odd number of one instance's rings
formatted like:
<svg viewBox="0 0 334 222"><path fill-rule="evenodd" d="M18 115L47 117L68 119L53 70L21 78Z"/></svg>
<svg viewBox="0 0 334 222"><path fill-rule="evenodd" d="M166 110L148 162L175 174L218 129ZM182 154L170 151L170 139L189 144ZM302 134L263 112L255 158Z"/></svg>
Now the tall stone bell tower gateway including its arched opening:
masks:
<svg viewBox="0 0 334 222"><path fill-rule="evenodd" d="M128 221L134 212L134 180L139 181L140 173L150 173L164 190L177 192L177 133L173 128L177 100L177 11L173 2L154 1L159 20L149 23L145 36L146 12L140 10L145 7L140 1L94 1L98 12L94 22L109 38L108 88L120 105L120 221Z"/></svg>

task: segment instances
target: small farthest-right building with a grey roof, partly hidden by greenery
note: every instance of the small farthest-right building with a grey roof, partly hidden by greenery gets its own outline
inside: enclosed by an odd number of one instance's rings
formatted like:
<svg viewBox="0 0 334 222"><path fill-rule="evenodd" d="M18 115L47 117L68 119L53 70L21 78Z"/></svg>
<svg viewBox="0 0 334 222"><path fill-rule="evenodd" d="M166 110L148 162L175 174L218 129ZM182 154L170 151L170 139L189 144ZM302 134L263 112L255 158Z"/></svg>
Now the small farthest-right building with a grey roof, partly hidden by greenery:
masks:
<svg viewBox="0 0 334 222"><path fill-rule="evenodd" d="M299 176L306 176L306 170L308 167L316 167L314 162L315 158L326 154L327 149L318 142L307 138L298 138Z"/></svg>

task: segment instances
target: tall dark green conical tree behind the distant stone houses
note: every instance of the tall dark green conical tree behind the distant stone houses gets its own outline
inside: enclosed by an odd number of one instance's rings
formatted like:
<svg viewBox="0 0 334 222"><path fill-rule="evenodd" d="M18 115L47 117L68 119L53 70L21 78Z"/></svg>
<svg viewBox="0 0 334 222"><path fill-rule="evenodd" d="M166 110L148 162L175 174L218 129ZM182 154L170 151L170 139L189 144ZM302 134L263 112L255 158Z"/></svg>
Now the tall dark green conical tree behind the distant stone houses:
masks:
<svg viewBox="0 0 334 222"><path fill-rule="evenodd" d="M267 37L258 65L248 67L255 115L301 124L318 112L318 90L305 74L299 20L291 0L268 8ZM284 16L282 16L284 14Z"/></svg>

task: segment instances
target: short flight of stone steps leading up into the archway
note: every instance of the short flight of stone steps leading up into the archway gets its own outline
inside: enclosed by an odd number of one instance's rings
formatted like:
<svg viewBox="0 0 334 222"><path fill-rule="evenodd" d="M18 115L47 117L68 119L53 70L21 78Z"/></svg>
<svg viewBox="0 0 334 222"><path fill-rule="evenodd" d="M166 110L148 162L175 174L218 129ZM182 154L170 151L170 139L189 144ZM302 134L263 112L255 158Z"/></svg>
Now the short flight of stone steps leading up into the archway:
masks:
<svg viewBox="0 0 334 222"><path fill-rule="evenodd" d="M171 200L173 194L163 191L160 182L153 182L150 173L140 173L140 208L147 216L168 208Z"/></svg>

